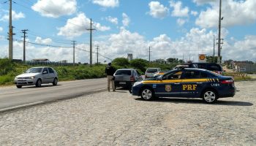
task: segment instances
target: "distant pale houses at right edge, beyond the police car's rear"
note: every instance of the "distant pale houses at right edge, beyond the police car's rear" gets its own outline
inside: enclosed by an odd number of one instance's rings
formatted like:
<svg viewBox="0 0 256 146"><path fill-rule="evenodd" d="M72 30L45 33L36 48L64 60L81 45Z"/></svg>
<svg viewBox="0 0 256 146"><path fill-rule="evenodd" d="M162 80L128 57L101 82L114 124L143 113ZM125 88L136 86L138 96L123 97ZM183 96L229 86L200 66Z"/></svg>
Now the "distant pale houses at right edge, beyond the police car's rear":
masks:
<svg viewBox="0 0 256 146"><path fill-rule="evenodd" d="M231 64L235 72L256 72L256 64L252 61L233 61Z"/></svg>

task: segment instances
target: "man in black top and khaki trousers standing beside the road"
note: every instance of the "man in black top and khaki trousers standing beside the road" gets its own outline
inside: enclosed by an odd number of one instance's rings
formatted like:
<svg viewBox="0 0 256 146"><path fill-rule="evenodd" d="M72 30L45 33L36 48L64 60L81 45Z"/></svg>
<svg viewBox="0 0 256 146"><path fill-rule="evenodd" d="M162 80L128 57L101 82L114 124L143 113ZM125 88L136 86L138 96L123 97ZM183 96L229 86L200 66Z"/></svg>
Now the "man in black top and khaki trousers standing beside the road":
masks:
<svg viewBox="0 0 256 146"><path fill-rule="evenodd" d="M111 66L111 63L108 63L108 66L105 68L105 73L107 74L107 78L108 78L108 91L110 91L110 82L111 82L112 90L116 91L114 76L113 76L115 72L116 72L116 69L113 68L113 66Z"/></svg>

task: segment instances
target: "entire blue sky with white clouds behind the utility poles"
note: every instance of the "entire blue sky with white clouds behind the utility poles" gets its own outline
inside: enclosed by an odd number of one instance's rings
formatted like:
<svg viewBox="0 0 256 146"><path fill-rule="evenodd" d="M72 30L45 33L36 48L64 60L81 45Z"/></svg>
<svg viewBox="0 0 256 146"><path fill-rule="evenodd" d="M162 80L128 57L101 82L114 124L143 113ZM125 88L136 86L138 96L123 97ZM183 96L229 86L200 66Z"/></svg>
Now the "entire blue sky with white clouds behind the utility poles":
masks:
<svg viewBox="0 0 256 146"><path fill-rule="evenodd" d="M93 21L93 62L118 57L148 60L213 55L218 35L219 0L12 0L13 58L48 58L89 62L89 28ZM256 1L222 1L223 60L256 61ZM0 4L0 58L8 56L9 4ZM217 45L215 45L215 55Z"/></svg>

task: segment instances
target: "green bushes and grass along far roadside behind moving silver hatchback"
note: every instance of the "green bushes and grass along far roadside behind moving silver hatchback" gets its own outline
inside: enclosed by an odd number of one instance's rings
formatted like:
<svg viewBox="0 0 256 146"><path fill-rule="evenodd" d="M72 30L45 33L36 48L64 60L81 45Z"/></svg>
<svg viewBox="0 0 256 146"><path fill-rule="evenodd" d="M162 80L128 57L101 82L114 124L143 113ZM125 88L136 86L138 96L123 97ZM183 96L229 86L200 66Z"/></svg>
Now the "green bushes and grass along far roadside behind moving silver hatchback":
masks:
<svg viewBox="0 0 256 146"><path fill-rule="evenodd" d="M0 85L12 85L15 76L22 74L29 66L21 63L14 63L9 59L0 58ZM58 72L59 80L83 80L105 77L105 65L83 65L79 66L52 66Z"/></svg>

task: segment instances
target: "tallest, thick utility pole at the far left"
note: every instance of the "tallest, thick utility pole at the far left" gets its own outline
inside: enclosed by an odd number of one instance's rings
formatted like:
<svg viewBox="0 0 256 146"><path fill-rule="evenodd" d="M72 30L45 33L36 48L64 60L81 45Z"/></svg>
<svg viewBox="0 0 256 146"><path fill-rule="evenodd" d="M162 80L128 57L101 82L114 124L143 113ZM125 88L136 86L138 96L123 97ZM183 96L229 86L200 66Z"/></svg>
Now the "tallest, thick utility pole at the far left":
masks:
<svg viewBox="0 0 256 146"><path fill-rule="evenodd" d="M12 60L13 50L12 50L12 0L10 1L9 9L9 59Z"/></svg>

